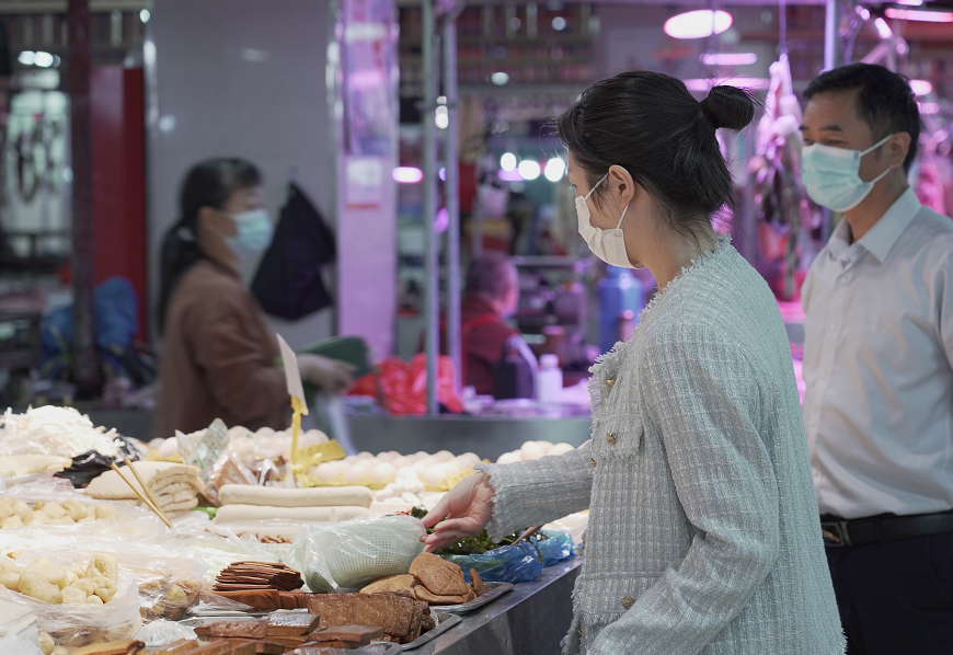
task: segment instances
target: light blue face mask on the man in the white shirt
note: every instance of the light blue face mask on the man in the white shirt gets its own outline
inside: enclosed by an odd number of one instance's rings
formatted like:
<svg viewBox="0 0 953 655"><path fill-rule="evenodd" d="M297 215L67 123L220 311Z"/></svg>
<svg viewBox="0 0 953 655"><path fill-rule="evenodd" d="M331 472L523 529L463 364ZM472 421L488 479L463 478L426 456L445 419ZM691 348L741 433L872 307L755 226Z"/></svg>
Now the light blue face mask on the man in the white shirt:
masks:
<svg viewBox="0 0 953 655"><path fill-rule="evenodd" d="M811 199L835 211L853 209L893 169L864 182L860 179L860 158L873 152L891 137L889 135L866 150L847 150L831 148L822 143L812 143L801 149L801 179Z"/></svg>

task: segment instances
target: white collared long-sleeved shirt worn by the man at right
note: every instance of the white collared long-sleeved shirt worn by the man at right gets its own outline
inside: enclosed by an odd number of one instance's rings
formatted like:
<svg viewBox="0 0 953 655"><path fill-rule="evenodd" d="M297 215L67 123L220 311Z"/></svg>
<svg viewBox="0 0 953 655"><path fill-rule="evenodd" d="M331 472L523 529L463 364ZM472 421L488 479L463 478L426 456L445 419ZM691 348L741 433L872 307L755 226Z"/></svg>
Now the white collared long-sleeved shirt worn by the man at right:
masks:
<svg viewBox="0 0 953 655"><path fill-rule="evenodd" d="M953 508L953 220L908 188L846 220L802 289L804 426L822 514Z"/></svg>

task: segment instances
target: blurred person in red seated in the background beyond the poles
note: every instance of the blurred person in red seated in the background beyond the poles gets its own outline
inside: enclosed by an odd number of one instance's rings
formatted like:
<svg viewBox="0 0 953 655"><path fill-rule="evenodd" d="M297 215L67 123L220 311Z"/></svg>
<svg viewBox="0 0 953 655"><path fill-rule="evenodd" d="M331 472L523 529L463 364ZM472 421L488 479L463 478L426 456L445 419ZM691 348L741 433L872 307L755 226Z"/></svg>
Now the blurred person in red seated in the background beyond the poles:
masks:
<svg viewBox="0 0 953 655"><path fill-rule="evenodd" d="M519 334L506 322L518 300L519 279L508 256L487 251L470 262L460 304L460 349L463 382L481 395L493 393L493 363L503 358L506 341Z"/></svg>

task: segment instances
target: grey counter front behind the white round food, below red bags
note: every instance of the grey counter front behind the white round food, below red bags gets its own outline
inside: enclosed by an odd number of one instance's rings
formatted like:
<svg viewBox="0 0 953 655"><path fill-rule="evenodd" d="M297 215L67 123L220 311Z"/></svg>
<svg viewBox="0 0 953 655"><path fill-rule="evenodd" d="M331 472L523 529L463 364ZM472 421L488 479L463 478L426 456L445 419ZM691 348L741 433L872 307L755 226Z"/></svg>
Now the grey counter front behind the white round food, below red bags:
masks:
<svg viewBox="0 0 953 655"><path fill-rule="evenodd" d="M585 416L351 416L351 438L368 452L474 452L496 461L525 441L565 441L575 447L589 438L592 421Z"/></svg>

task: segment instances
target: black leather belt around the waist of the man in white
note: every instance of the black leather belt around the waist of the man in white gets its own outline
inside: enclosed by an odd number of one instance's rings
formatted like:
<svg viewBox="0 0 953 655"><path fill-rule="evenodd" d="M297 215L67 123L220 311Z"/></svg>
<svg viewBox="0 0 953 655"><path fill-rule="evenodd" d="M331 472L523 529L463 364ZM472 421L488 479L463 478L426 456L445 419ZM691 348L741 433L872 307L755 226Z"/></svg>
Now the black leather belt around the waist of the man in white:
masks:
<svg viewBox="0 0 953 655"><path fill-rule="evenodd" d="M850 520L829 514L820 517L820 533L827 548L864 545L951 532L953 532L953 509L911 516L880 514Z"/></svg>

